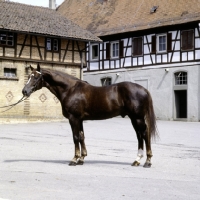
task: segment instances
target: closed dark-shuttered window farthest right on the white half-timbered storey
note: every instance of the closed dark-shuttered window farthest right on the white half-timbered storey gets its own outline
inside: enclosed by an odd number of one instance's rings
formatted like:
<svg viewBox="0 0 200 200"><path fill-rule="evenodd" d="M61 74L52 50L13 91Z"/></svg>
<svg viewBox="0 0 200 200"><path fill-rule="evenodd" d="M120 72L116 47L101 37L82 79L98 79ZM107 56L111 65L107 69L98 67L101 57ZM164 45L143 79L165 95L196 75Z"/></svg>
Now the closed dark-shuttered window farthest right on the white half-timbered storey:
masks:
<svg viewBox="0 0 200 200"><path fill-rule="evenodd" d="M191 50L194 48L194 31L182 31L181 33L181 50Z"/></svg>

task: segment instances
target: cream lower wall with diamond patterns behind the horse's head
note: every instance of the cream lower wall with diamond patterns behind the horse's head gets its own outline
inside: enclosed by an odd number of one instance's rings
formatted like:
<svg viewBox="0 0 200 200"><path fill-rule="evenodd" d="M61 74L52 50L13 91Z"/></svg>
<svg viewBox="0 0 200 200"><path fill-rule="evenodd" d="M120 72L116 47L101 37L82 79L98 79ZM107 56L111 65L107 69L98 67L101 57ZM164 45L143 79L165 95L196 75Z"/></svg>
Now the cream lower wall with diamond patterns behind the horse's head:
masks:
<svg viewBox="0 0 200 200"><path fill-rule="evenodd" d="M0 106L16 103L22 98L22 89L28 80L30 70L26 66L36 68L37 63L23 61L0 60ZM16 69L17 77L6 78L4 68ZM80 78L80 67L65 65L41 64L41 68L60 70L62 72ZM1 108L0 112L6 110ZM1 121L12 120L60 120L63 119L61 106L58 99L46 88L33 93L27 100L16 105L12 109L0 113Z"/></svg>

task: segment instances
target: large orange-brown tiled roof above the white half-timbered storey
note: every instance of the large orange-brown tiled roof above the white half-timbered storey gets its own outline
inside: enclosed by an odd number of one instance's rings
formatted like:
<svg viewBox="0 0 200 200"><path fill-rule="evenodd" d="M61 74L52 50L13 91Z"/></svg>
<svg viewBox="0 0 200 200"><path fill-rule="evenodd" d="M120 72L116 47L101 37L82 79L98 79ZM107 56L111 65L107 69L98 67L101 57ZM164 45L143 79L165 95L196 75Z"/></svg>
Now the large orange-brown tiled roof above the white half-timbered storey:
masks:
<svg viewBox="0 0 200 200"><path fill-rule="evenodd" d="M57 10L98 36L200 21L199 0L65 0Z"/></svg>

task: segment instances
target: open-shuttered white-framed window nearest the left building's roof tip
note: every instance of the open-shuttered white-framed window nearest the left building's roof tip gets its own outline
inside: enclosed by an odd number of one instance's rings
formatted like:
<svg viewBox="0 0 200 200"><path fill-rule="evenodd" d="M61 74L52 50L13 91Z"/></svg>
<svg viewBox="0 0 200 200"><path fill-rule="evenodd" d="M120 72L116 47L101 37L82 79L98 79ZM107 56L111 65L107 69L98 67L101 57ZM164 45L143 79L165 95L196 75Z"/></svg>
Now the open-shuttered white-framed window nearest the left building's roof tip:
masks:
<svg viewBox="0 0 200 200"><path fill-rule="evenodd" d="M124 41L106 43L106 59L122 58L124 56Z"/></svg>

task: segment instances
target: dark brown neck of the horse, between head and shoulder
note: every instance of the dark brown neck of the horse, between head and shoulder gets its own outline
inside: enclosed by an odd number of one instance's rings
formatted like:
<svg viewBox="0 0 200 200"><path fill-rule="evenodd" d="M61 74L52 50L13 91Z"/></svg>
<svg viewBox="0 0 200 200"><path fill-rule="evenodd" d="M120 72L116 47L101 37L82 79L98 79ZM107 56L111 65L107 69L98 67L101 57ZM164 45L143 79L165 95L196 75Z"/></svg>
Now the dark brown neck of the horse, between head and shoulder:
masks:
<svg viewBox="0 0 200 200"><path fill-rule="evenodd" d="M61 99L62 93L73 86L73 81L65 78L54 71L43 71L44 87L48 88L58 99Z"/></svg>

